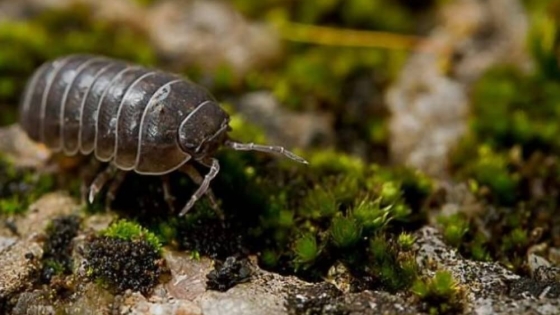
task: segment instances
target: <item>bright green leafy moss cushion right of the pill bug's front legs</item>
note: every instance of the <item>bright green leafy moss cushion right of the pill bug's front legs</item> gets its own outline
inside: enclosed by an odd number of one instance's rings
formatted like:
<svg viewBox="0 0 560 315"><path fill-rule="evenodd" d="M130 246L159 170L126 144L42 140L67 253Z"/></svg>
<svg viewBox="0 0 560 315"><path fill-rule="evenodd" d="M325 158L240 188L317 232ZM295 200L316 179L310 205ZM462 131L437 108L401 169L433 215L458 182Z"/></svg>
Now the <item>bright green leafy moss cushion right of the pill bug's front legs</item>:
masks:
<svg viewBox="0 0 560 315"><path fill-rule="evenodd" d="M221 161L234 161L229 160L234 153L223 155ZM245 235L250 250L263 253L261 264L317 280L340 261L354 272L383 278L368 284L371 287L410 284L413 255L402 255L408 258L401 261L396 241L400 233L389 231L425 222L422 204L431 194L431 182L416 172L368 165L333 151L307 157L307 168L270 159L273 162L255 164L250 174L242 172L241 165L248 162L236 159L240 164L234 169L243 174L243 184L229 184L233 179L228 174L227 188L222 189L224 179L216 178L216 193L231 216L228 222L243 222L246 232L237 233ZM230 172L230 165L222 165L222 174ZM378 234L391 244L391 254L375 260L374 270L365 267L372 264L367 240Z"/></svg>

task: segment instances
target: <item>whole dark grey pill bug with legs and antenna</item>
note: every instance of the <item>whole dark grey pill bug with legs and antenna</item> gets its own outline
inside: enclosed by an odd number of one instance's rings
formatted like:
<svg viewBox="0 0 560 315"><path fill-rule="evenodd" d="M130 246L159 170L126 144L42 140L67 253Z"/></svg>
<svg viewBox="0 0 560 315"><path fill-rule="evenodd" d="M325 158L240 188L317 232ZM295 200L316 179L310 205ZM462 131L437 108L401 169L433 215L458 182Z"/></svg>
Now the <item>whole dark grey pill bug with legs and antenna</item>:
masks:
<svg viewBox="0 0 560 315"><path fill-rule="evenodd" d="M178 74L126 60L71 54L47 61L31 75L19 104L19 123L30 139L54 153L93 155L108 166L86 188L94 201L109 180L108 200L129 171L167 175L179 170L198 184L180 211L183 216L207 195L222 147L282 154L307 164L280 146L240 143L228 136L229 115L202 86ZM209 168L202 177L192 162Z"/></svg>

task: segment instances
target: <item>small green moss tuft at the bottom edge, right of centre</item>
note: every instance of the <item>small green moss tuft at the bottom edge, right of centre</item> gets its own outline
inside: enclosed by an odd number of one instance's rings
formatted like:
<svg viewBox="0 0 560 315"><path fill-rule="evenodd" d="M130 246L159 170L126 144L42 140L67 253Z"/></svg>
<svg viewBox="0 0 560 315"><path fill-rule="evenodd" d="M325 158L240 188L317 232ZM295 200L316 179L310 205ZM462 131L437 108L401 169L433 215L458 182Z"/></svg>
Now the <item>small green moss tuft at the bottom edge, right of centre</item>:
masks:
<svg viewBox="0 0 560 315"><path fill-rule="evenodd" d="M418 279L411 290L430 315L463 313L463 289L448 271L438 270L433 278Z"/></svg>

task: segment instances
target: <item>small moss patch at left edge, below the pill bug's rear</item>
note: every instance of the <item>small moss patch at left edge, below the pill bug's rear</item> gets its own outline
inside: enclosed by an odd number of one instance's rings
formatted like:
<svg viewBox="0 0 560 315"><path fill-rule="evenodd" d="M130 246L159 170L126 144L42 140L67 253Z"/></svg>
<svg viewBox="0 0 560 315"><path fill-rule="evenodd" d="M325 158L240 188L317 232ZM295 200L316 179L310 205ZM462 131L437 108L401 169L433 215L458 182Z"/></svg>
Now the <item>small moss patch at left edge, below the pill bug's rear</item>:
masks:
<svg viewBox="0 0 560 315"><path fill-rule="evenodd" d="M15 167L0 155L0 215L23 213L31 203L54 187L52 175Z"/></svg>

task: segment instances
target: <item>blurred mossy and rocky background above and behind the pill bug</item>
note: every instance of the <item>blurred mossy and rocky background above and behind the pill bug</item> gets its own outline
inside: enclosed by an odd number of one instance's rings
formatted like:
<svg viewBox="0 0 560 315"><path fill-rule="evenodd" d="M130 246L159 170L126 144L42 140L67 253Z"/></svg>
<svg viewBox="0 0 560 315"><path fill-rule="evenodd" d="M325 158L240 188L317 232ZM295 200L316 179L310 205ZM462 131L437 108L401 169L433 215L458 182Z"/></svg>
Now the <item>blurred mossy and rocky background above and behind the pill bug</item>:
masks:
<svg viewBox="0 0 560 315"><path fill-rule="evenodd" d="M558 73L555 3L2 0L0 123L42 62L99 53L188 76L272 142L440 173L485 69L527 69L533 42Z"/></svg>

